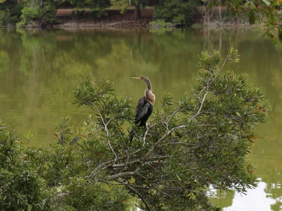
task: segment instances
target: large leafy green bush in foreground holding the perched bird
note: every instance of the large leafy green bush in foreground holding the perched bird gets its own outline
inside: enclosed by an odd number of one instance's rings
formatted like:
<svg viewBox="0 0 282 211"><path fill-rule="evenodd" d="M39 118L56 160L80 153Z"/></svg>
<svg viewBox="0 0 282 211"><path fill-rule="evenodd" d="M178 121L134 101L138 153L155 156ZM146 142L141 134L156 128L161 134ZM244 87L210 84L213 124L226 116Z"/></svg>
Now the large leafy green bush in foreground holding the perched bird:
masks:
<svg viewBox="0 0 282 211"><path fill-rule="evenodd" d="M131 99L117 98L113 83L98 86L91 76L74 95L95 118L72 130L64 117L50 148L29 147L31 134L23 141L1 124L0 209L122 211L135 196L142 210L215 211L210 186L241 193L256 187L246 155L269 104L246 75L222 73L226 62L238 61L234 49L223 60L217 51L202 53L194 97L174 103L166 94L131 144L125 129L133 121Z"/></svg>

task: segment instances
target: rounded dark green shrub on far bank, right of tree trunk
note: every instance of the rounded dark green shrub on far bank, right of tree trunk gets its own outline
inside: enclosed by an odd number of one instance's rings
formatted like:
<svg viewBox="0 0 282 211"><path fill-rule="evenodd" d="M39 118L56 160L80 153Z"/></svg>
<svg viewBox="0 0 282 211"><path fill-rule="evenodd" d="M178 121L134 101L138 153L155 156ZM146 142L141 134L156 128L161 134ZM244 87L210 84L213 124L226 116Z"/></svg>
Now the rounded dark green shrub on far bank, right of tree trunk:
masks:
<svg viewBox="0 0 282 211"><path fill-rule="evenodd" d="M193 1L160 0L153 18L177 25L192 25L195 9L196 4Z"/></svg>

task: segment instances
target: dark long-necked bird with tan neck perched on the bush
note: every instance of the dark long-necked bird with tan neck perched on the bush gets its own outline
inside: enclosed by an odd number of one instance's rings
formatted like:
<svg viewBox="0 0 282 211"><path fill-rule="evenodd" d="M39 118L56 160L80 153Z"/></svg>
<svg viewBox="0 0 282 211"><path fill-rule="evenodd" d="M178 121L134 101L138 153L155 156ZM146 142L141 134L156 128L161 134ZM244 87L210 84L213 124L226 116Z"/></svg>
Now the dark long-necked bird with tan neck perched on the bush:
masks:
<svg viewBox="0 0 282 211"><path fill-rule="evenodd" d="M135 108L135 125L139 122L138 127L143 127L146 124L149 116L153 112L153 104L155 102L155 95L152 93L152 85L150 80L147 77L135 78L142 80L146 83L147 89L145 90L145 95L138 101L138 104ZM134 130L131 130L129 135L129 141L131 142L134 137Z"/></svg>

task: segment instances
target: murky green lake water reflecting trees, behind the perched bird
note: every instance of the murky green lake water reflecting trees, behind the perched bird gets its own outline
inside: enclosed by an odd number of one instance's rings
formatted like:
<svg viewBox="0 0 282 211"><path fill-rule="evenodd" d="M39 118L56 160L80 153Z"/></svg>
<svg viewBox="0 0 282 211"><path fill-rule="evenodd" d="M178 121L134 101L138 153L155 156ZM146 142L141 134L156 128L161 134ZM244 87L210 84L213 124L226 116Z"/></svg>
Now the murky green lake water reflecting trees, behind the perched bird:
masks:
<svg viewBox="0 0 282 211"><path fill-rule="evenodd" d="M225 70L246 72L265 91L273 110L257 128L259 140L249 156L261 179L248 195L211 191L211 201L226 211L282 210L282 45L261 39L261 29L83 29L0 30L0 119L19 134L35 134L31 145L54 143L54 127L71 116L77 126L92 111L72 105L74 90L87 74L101 84L115 82L118 96L142 97L145 84L131 77L147 76L156 96L175 99L191 92L202 51L239 50L240 63ZM136 208L133 208L135 210Z"/></svg>

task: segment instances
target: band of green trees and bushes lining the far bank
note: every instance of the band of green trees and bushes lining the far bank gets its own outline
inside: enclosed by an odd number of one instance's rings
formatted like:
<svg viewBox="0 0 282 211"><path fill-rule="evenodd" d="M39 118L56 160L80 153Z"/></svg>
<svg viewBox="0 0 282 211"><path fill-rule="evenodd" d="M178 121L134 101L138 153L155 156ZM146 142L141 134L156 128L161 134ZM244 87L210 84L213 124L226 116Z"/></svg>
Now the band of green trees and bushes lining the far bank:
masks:
<svg viewBox="0 0 282 211"><path fill-rule="evenodd" d="M124 13L128 7L134 6L134 20L141 17L141 8L146 5L155 6L153 21L155 23L171 23L172 25L191 25L197 6L201 5L204 22L214 17L214 6L219 6L219 20L222 21L221 7L227 8L228 16L239 21L242 15L247 16L250 24L265 23L265 35L275 44L282 41L282 0L6 0L0 3L0 26L17 24L18 27L33 24L45 26L58 23L58 8L62 6L87 8L91 16L99 18L107 14L106 8L121 9ZM77 11L79 15L83 12ZM166 26L168 24L161 24ZM275 29L278 28L278 33Z"/></svg>

